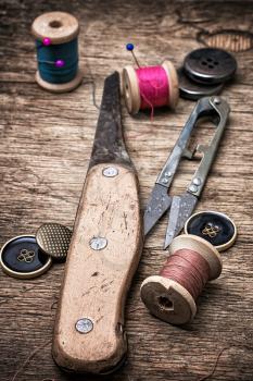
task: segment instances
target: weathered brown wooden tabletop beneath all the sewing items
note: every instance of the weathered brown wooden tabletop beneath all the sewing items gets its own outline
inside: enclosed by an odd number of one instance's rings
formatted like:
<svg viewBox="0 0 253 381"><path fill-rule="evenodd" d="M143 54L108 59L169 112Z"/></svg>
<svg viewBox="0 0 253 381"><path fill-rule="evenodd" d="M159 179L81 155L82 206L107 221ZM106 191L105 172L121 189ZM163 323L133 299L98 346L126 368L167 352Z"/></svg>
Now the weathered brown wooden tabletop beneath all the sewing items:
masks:
<svg viewBox="0 0 253 381"><path fill-rule="evenodd" d="M203 380L224 349L208 379L253 380L253 2L1 0L1 244L18 234L34 234L46 221L72 226L90 157L98 118L92 86L83 84L74 93L51 95L34 79L30 24L40 13L53 10L67 11L79 19L80 67L86 81L96 78L98 102L104 76L131 63L131 56L125 50L128 41L136 45L142 65L159 64L166 58L178 67L185 54L203 46L203 41L227 44L238 50L238 74L223 91L231 106L230 124L198 206L198 210L214 209L235 219L239 230L237 243L223 254L223 274L200 297L193 323L176 328L150 316L139 297L141 281L157 273L166 257L162 250L166 219L162 221L146 242L127 300L127 362L107 379ZM220 38L208 35L229 29ZM237 36L237 30L249 34ZM131 118L123 107L126 142L139 173L142 208L193 106L180 99L175 113L159 111L153 122L149 113ZM192 170L189 163L181 167L175 193L186 187ZM1 381L12 380L36 348L40 349L16 380L96 379L63 373L51 358L48 341L63 271L64 265L54 265L47 274L28 281L0 273Z"/></svg>

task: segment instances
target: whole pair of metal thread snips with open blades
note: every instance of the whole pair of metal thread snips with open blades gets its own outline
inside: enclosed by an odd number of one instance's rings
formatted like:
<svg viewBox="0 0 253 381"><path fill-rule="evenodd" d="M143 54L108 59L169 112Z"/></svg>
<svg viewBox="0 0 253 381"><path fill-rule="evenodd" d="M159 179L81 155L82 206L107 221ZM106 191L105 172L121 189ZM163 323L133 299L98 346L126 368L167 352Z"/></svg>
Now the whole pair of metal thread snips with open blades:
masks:
<svg viewBox="0 0 253 381"><path fill-rule="evenodd" d="M168 224L164 249L180 233L197 206L223 137L229 112L230 108L223 98L217 96L201 98L186 122L172 153L159 174L144 211L144 235L148 235L161 217L167 212ZM192 130L203 116L206 116L214 123L214 136L208 145L198 145L191 151L188 146ZM168 189L181 158L191 160L197 152L202 153L202 159L186 192L179 196L169 196Z"/></svg>

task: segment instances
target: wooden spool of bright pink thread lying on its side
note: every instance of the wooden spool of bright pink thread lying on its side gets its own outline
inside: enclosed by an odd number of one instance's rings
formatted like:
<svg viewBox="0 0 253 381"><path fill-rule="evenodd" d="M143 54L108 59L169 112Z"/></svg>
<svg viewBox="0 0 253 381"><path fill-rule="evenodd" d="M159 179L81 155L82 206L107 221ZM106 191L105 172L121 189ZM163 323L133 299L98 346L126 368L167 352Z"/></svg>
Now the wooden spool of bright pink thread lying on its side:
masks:
<svg viewBox="0 0 253 381"><path fill-rule="evenodd" d="M177 72L170 61L161 66L123 70L123 94L130 114L139 110L168 106L175 108L179 97Z"/></svg>

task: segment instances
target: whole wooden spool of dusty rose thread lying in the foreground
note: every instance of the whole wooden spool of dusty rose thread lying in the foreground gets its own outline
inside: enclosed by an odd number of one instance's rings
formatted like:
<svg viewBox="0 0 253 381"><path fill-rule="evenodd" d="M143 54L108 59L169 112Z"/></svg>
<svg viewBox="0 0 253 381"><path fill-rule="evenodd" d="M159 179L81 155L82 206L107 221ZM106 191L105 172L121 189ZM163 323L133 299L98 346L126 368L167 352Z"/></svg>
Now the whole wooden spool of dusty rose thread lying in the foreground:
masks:
<svg viewBox="0 0 253 381"><path fill-rule="evenodd" d="M176 237L169 251L160 275L141 284L141 299L161 320L185 324L194 318L195 300L205 283L219 276L222 258L213 245L190 234Z"/></svg>

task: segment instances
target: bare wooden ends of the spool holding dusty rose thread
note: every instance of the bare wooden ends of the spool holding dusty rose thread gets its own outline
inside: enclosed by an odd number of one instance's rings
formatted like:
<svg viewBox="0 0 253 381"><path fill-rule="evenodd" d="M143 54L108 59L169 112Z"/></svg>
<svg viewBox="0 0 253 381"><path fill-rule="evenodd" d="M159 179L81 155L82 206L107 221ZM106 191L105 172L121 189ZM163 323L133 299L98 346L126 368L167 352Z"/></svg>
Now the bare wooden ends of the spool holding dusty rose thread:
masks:
<svg viewBox="0 0 253 381"><path fill-rule="evenodd" d="M180 235L172 242L169 254L173 256L181 249L201 255L208 266L208 281L219 276L223 267L222 258L208 242L191 234ZM161 275L149 276L141 284L140 293L147 308L161 320L172 324L185 324L195 316L194 298L188 290L174 280Z"/></svg>

